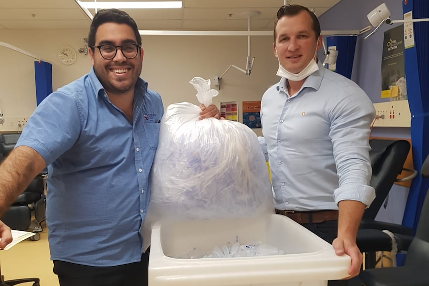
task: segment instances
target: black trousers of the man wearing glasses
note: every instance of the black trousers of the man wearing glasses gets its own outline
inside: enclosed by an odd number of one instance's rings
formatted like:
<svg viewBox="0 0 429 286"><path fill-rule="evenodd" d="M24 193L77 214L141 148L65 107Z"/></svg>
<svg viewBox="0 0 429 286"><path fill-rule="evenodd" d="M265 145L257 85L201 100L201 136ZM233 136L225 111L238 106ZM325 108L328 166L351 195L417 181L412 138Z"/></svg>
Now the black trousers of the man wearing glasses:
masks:
<svg viewBox="0 0 429 286"><path fill-rule="evenodd" d="M54 260L60 286L147 286L149 249L140 262L94 267Z"/></svg>

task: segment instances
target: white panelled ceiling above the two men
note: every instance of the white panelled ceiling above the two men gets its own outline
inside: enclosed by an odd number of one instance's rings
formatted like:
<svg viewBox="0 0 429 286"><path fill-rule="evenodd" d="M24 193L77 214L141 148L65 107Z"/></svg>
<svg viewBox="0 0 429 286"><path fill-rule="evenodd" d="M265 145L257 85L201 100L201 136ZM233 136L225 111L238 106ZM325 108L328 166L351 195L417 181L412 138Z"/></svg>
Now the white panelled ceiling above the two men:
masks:
<svg viewBox="0 0 429 286"><path fill-rule="evenodd" d="M117 1L117 0L116 0ZM289 0L320 16L340 0ZM240 13L260 11L251 31L272 30L284 0L182 0L180 9L128 9L140 30L247 30ZM94 10L90 10L94 14ZM0 29L88 29L90 20L74 0L0 0Z"/></svg>

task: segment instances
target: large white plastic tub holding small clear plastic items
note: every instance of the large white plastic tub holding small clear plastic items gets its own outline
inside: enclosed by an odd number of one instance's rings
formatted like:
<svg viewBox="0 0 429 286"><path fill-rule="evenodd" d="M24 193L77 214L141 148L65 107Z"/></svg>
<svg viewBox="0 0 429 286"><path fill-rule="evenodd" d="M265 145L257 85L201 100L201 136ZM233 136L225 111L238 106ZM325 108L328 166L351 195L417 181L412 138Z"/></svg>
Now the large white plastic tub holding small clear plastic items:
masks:
<svg viewBox="0 0 429 286"><path fill-rule="evenodd" d="M194 248L261 241L284 255L242 258L176 259ZM350 258L293 220L277 214L234 220L194 220L154 225L149 286L324 286L348 276Z"/></svg>

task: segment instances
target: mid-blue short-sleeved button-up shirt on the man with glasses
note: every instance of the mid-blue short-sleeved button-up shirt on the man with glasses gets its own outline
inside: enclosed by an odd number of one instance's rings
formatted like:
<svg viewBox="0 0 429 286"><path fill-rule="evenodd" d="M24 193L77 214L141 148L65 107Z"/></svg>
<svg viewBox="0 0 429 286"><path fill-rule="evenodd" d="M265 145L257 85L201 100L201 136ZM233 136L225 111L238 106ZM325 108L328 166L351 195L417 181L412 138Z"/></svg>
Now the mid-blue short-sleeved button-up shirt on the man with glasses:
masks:
<svg viewBox="0 0 429 286"><path fill-rule="evenodd" d="M161 97L139 79L133 120L113 105L92 69L49 95L16 146L48 166L46 222L52 260L90 266L140 261Z"/></svg>

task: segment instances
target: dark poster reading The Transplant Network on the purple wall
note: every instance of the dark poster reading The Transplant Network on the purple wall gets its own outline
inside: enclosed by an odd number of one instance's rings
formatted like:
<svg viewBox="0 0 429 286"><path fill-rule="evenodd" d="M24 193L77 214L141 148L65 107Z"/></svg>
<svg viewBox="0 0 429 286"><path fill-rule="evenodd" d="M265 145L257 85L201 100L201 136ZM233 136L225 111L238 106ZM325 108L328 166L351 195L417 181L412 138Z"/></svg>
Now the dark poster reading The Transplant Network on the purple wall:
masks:
<svg viewBox="0 0 429 286"><path fill-rule="evenodd" d="M396 88L394 88L396 87ZM381 61L381 97L406 99L407 89L404 63L404 25L384 32Z"/></svg>

